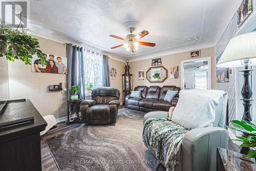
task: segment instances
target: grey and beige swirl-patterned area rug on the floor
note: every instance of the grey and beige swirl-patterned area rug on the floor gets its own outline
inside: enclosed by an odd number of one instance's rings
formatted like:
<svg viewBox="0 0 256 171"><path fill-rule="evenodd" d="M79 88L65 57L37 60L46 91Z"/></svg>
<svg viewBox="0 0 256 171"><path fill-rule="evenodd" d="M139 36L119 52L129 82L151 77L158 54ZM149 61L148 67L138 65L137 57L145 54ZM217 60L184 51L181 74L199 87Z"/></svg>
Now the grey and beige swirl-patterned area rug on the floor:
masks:
<svg viewBox="0 0 256 171"><path fill-rule="evenodd" d="M157 160L142 141L144 115L120 109L116 124L85 125L46 143L60 170L156 170Z"/></svg>

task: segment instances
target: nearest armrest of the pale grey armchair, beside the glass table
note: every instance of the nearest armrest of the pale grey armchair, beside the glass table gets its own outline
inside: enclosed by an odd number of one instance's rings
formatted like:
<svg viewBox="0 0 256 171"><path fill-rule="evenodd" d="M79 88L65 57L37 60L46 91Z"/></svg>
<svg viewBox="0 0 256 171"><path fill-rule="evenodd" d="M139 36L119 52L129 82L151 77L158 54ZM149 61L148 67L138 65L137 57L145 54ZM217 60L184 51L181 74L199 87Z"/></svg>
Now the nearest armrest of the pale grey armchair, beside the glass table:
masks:
<svg viewBox="0 0 256 171"><path fill-rule="evenodd" d="M227 149L228 131L202 127L188 131L181 145L182 170L216 170L217 147Z"/></svg>

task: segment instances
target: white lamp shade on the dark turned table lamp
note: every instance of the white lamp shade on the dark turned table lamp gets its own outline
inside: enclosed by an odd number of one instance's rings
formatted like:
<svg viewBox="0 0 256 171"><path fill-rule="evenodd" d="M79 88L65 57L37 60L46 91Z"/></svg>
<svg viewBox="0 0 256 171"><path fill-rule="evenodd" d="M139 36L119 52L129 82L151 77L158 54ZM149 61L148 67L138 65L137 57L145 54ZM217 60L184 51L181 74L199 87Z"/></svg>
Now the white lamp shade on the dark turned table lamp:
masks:
<svg viewBox="0 0 256 171"><path fill-rule="evenodd" d="M221 55L217 67L242 67L243 59L251 59L249 65L256 65L256 32L233 37Z"/></svg>

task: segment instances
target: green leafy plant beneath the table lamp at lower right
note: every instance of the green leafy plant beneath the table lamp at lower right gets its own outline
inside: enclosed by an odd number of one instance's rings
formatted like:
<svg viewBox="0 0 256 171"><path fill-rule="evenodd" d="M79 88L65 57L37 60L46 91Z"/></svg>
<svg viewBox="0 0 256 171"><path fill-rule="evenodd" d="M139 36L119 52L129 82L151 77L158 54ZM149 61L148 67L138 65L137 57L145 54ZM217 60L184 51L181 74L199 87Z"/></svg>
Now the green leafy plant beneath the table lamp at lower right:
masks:
<svg viewBox="0 0 256 171"><path fill-rule="evenodd" d="M255 121L246 120L232 120L232 126L227 126L229 129L242 132L242 136L237 136L238 139L231 139L234 141L240 141L241 147L249 147L250 149L247 157L256 158L256 124Z"/></svg>

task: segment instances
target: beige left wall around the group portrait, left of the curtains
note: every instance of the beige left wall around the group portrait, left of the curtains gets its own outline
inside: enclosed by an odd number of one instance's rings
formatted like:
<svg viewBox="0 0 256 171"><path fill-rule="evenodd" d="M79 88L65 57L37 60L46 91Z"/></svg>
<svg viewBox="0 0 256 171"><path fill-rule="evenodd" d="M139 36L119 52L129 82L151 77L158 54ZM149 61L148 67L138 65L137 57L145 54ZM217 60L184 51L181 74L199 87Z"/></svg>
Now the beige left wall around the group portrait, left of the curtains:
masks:
<svg viewBox="0 0 256 171"><path fill-rule="evenodd" d="M66 45L58 42L36 37L40 44L40 50L47 54L66 57ZM31 72L30 65L16 60L8 62L10 98L30 99L42 116L54 115L56 118L67 116L67 93L61 91L49 91L49 84L66 82L68 75L35 73Z"/></svg>

